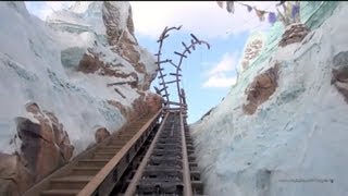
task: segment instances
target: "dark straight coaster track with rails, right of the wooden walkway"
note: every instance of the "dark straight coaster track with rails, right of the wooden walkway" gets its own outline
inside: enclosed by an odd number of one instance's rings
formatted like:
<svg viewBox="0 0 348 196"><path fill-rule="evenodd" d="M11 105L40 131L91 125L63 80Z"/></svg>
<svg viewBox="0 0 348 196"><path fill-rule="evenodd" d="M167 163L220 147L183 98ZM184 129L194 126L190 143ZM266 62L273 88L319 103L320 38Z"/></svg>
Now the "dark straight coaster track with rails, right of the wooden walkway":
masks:
<svg viewBox="0 0 348 196"><path fill-rule="evenodd" d="M166 112L124 195L194 195L186 136L182 112Z"/></svg>

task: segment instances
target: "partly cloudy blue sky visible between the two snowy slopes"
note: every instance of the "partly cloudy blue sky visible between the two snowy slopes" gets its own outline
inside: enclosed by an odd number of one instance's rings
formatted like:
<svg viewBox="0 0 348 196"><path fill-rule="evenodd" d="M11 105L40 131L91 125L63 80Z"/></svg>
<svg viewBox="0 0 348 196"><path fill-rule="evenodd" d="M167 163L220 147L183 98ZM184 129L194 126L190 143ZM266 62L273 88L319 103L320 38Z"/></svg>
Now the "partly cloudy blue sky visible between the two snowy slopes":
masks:
<svg viewBox="0 0 348 196"><path fill-rule="evenodd" d="M32 14L45 20L54 10L67 9L74 1L27 1ZM271 11L274 2L248 2L259 9ZM164 42L165 57L174 61L174 51L183 51L182 41L190 41L190 33L211 45L208 50L199 46L183 64L183 82L188 102L188 123L199 120L216 106L231 89L236 79L236 66L250 33L265 30L266 22L259 22L254 13L236 5L235 14L217 7L215 1L132 1L136 37L140 46L157 53L157 39L165 26L179 26ZM171 66L167 64L167 66ZM152 83L158 86L158 81ZM173 85L171 99L176 100Z"/></svg>

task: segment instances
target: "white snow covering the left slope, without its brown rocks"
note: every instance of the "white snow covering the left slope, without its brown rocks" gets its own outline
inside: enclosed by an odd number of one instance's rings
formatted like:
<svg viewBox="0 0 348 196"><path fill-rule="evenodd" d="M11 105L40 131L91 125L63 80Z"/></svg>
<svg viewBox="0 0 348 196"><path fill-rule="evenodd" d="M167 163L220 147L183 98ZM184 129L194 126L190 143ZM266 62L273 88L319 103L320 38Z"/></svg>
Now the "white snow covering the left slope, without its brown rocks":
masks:
<svg viewBox="0 0 348 196"><path fill-rule="evenodd" d="M126 96L124 99L112 91L112 87L107 87L107 84L129 78L72 74L61 63L62 50L71 47L87 49L94 45L100 33L97 32L96 35L94 29L98 28L98 25L103 26L101 14L98 17L98 12L101 13L98 3L100 2L97 2L96 7L88 5L89 9L84 16L70 12L70 15L66 15L69 19L54 17L55 22L64 23L66 26L70 24L64 20L71 20L70 22L75 23L73 26L75 25L76 29L83 29L84 25L91 27L91 30L82 33L51 28L47 23L29 15L24 2L0 3L0 23L7 24L5 28L0 29L1 151L13 152L18 149L18 143L10 145L16 134L16 117L36 122L25 111L28 100L37 102L41 110L51 111L57 115L64 125L72 145L75 146L74 156L95 143L95 127L104 126L114 132L125 123L119 109L110 106L107 100L114 99L124 106L130 106L139 95L129 85L122 85L119 89ZM82 11L83 9L75 10ZM62 13L60 16L64 16ZM92 15L94 13L97 15ZM84 20L87 22L84 23ZM97 21L101 23L94 26ZM127 61L112 52L108 46L98 40L97 42L99 47L95 50L104 54L104 62L121 63L123 66L114 68L120 72L134 72L134 68Z"/></svg>

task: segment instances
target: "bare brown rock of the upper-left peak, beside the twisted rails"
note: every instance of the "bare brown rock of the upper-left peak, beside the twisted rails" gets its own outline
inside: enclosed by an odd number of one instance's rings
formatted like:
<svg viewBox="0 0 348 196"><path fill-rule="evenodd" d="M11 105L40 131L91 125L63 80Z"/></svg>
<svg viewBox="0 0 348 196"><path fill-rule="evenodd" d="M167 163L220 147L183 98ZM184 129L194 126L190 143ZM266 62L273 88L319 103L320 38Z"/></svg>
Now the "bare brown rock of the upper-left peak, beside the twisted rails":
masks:
<svg viewBox="0 0 348 196"><path fill-rule="evenodd" d="M132 19L132 8L126 1L105 1L102 4L102 20L107 29L107 39L112 52L115 52L134 68L134 72L129 73L137 83L139 90L148 90L154 78L156 73L148 73L145 62L141 61L141 49L134 36L134 24ZM84 73L95 73L99 69L100 75L113 75L115 77L127 77L129 74L120 73L117 66L120 63L102 61L101 56L105 56L102 51L96 50L98 44L95 42L94 48L87 49L79 61L78 71ZM144 56L144 54L142 54ZM110 68L115 69L110 69ZM154 64L153 64L154 66ZM138 75L144 79L138 82Z"/></svg>

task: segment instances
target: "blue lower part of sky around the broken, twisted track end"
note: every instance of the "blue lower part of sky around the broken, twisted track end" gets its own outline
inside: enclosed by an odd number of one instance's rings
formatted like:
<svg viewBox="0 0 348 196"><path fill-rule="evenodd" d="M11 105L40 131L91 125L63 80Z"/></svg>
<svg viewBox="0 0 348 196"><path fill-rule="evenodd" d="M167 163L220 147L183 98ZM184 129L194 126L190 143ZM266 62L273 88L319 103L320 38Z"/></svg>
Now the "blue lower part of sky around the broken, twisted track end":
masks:
<svg viewBox="0 0 348 196"><path fill-rule="evenodd" d="M199 33L194 33L198 38ZM136 35L140 45L146 47L152 53L157 53L158 45L153 45L153 40L146 36ZM171 38L171 39L170 39ZM222 98L228 93L233 81L236 77L234 71L234 64L239 59L241 51L238 49L244 47L248 33L232 36L227 40L224 39L206 39L211 46L210 50L206 46L198 46L195 51L189 54L187 59L183 61L183 83L182 86L186 91L187 105L188 105L188 122L192 123L199 120L207 111L217 105ZM182 41L190 41L191 37L186 32L172 32L169 40L164 42L165 51L164 57L175 58L174 51L182 52ZM163 47L163 48L164 48ZM166 59L164 58L163 59ZM216 63L217 62L217 63ZM231 63L231 66L226 69L215 69L216 64L225 65ZM227 65L227 64L226 64ZM164 64L164 68L172 68L170 64ZM215 70L214 70L215 69ZM165 70L165 73L171 72ZM219 75L220 74L220 75ZM221 75L222 74L222 75ZM214 75L221 81L209 82ZM223 81L222 78L226 78ZM228 81L229 79L229 81ZM167 79L172 81L172 79ZM158 86L158 81L152 83L152 86ZM170 94L176 96L176 87L172 85ZM175 99L176 97L171 97Z"/></svg>

